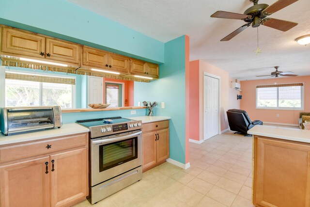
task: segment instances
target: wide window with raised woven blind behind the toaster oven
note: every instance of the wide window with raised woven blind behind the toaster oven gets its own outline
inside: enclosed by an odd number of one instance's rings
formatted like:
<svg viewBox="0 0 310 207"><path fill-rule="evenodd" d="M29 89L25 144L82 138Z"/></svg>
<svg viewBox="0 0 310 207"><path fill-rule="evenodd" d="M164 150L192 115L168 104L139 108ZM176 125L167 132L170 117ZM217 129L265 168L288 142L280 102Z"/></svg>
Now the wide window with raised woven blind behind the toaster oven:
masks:
<svg viewBox="0 0 310 207"><path fill-rule="evenodd" d="M73 109L75 106L75 78L44 76L31 73L5 73L5 105L19 106L61 106Z"/></svg>

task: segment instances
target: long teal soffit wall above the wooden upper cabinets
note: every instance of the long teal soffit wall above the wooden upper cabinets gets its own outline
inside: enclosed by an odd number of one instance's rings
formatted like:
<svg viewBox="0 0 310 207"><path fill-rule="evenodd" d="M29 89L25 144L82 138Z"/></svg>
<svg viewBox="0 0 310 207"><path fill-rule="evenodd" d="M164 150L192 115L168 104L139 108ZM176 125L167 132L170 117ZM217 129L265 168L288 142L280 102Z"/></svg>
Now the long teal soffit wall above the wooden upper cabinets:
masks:
<svg viewBox="0 0 310 207"><path fill-rule="evenodd" d="M66 0L0 0L0 24L164 62L164 43Z"/></svg>

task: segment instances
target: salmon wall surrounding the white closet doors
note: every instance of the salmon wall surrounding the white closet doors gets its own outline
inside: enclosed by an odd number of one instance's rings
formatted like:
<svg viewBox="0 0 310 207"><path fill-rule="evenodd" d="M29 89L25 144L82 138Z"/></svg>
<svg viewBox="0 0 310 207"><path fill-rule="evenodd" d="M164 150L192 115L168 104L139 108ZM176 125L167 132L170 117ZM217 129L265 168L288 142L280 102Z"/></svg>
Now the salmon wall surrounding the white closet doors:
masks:
<svg viewBox="0 0 310 207"><path fill-rule="evenodd" d="M238 91L230 88L229 73L212 64L202 60L191 61L190 63L190 85L189 85L189 138L203 140L203 72L220 77L220 123L221 131L228 128L226 111L228 109L239 109L240 102L233 98Z"/></svg>

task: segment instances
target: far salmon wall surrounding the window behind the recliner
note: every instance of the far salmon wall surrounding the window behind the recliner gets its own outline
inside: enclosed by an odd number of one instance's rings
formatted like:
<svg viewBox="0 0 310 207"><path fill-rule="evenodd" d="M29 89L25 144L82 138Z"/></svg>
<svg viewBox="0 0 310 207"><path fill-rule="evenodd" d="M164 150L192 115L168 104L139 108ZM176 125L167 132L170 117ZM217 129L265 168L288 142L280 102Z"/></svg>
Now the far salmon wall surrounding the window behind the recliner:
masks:
<svg viewBox="0 0 310 207"><path fill-rule="evenodd" d="M305 112L310 112L310 76L240 81L242 89L240 108L247 111L252 120L257 119L263 122L298 125L299 112L301 111L256 109L256 85L270 85L275 82L278 84L303 82ZM279 114L279 117L277 117L277 114Z"/></svg>

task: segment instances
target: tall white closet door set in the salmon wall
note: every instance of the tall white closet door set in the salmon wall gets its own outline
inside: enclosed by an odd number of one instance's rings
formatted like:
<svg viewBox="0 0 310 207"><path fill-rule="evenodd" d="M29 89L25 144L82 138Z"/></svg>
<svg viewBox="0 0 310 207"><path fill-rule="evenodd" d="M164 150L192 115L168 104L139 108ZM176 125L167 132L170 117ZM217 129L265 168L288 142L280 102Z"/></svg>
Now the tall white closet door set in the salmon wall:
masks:
<svg viewBox="0 0 310 207"><path fill-rule="evenodd" d="M219 80L210 76L203 78L203 139L218 134Z"/></svg>

